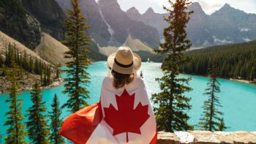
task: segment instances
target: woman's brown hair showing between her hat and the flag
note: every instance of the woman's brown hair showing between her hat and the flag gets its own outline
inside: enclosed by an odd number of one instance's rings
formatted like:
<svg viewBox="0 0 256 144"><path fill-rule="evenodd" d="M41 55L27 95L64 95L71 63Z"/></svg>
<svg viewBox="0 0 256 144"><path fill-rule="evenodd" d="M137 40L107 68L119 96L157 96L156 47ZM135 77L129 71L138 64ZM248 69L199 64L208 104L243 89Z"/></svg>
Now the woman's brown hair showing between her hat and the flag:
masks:
<svg viewBox="0 0 256 144"><path fill-rule="evenodd" d="M125 84L129 85L135 78L135 74L121 74L112 69L111 74L113 75L113 87L122 88Z"/></svg>

